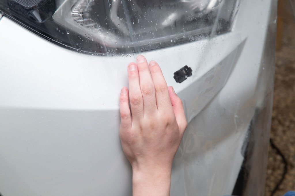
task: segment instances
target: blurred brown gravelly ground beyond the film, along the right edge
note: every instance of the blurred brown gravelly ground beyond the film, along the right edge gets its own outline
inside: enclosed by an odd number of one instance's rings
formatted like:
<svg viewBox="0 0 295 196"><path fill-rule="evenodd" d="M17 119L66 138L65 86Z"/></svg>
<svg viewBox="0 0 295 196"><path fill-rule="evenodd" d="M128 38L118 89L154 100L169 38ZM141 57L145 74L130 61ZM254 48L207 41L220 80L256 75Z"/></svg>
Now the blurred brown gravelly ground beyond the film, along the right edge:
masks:
<svg viewBox="0 0 295 196"><path fill-rule="evenodd" d="M276 73L266 196L295 190L295 0L278 0Z"/></svg>

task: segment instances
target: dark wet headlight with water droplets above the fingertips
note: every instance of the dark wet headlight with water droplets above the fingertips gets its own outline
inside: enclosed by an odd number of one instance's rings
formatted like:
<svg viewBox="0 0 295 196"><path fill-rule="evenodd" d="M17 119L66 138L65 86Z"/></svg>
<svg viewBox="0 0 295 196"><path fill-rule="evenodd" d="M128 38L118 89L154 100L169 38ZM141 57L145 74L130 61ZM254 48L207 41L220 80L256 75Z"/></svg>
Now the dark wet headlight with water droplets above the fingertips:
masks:
<svg viewBox="0 0 295 196"><path fill-rule="evenodd" d="M0 0L0 10L69 49L126 55L231 30L238 0Z"/></svg>

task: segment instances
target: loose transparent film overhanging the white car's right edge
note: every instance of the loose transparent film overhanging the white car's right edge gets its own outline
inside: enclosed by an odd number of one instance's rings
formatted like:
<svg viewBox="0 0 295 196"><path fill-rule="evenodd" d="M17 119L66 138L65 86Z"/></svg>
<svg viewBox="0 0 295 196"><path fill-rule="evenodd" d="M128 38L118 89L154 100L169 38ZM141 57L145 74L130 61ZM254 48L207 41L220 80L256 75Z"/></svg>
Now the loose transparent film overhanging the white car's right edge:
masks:
<svg viewBox="0 0 295 196"><path fill-rule="evenodd" d="M260 62L255 98L258 105L247 131L242 153L244 160L233 195L264 195L269 132L273 106L277 1L271 2L267 33ZM261 96L261 98L258 98Z"/></svg>

